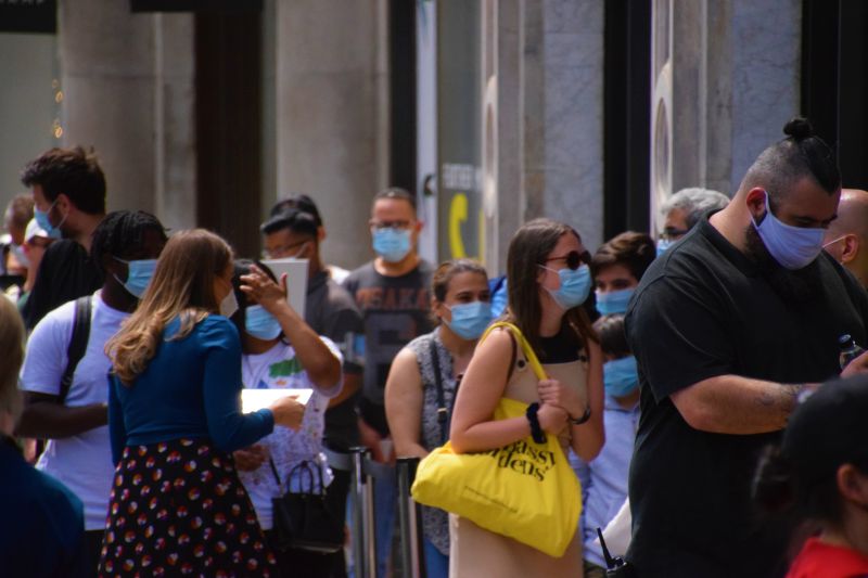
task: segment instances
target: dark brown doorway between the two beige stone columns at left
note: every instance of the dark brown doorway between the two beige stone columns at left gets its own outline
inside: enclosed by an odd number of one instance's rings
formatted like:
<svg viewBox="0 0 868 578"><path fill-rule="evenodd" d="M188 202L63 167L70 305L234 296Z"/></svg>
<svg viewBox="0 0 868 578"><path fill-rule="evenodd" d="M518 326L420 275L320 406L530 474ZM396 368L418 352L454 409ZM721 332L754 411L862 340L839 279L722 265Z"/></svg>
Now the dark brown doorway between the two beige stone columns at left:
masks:
<svg viewBox="0 0 868 578"><path fill-rule="evenodd" d="M259 253L261 14L195 15L196 221L241 257Z"/></svg>

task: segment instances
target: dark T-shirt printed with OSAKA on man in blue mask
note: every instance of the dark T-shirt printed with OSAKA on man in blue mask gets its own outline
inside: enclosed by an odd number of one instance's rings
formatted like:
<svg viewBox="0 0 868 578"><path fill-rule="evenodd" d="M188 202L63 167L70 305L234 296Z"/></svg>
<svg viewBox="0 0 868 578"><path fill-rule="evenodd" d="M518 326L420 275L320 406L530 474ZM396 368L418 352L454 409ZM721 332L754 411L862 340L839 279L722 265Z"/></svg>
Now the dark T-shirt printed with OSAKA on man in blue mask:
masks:
<svg viewBox="0 0 868 578"><path fill-rule="evenodd" d="M388 432L383 391L392 361L405 345L434 329L429 318L432 274L424 260L400 277L381 275L369 262L344 281L365 320L365 382L359 407L366 422L381 434Z"/></svg>

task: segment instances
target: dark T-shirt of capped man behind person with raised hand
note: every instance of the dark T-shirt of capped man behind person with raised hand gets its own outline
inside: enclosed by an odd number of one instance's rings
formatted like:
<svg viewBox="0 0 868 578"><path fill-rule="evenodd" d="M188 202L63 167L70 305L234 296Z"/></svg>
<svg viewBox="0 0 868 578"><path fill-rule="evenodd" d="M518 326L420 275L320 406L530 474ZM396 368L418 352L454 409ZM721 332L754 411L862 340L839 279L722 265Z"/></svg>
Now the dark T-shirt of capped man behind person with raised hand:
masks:
<svg viewBox="0 0 868 578"><path fill-rule="evenodd" d="M305 321L318 335L324 335L344 351L344 374L360 374L361 367L347 358L346 344L354 335L362 335L361 314L349 293L334 282L326 271L315 274L307 284ZM358 446L359 428L356 423L354 398L326 412L324 438L335 450L347 451Z"/></svg>

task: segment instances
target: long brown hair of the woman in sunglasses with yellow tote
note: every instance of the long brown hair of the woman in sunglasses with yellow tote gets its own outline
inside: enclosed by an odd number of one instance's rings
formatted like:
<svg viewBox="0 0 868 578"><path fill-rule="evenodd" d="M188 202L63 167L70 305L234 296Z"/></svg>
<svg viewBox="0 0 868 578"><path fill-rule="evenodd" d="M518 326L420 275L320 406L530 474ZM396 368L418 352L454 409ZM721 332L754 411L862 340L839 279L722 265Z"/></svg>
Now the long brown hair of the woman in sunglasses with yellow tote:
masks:
<svg viewBox="0 0 868 578"><path fill-rule="evenodd" d="M538 266L545 264L558 241L565 234L573 234L580 240L575 229L569 224L551 219L534 219L515 231L509 243L507 252L509 308L506 320L519 326L536 351L541 350L539 322L542 318L537 281ZM571 333L576 337L577 347L586 347L588 339L598 341L582 306L566 311L562 323L573 329Z"/></svg>

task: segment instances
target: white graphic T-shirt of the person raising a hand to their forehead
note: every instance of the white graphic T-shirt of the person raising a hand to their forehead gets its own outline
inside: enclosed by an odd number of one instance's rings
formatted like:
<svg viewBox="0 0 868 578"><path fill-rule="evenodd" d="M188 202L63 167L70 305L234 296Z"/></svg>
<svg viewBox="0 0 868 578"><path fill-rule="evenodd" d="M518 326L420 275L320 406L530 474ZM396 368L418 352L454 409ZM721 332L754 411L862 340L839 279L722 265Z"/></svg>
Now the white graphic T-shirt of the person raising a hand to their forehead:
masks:
<svg viewBox="0 0 868 578"><path fill-rule="evenodd" d="M320 337L329 346L332 354L343 362L341 352L328 337ZM310 382L307 372L295 358L295 350L283 342L259 355L245 355L241 363L241 378L244 387L257 389L312 389L314 395L305 407L305 416L302 427L293 432L286 427L275 427L275 432L258 441L264 445L268 454L275 461L275 466L285 484L286 474L303 461L319 463L323 473L323 483L328 486L332 481L332 472L328 466L326 455L322 453L322 431L326 428L326 410L329 399L341 391L343 380L328 390L318 390ZM239 471L241 481L247 489L256 515L263 529L269 530L273 526L271 498L280 496L275 474L268 462L253 472ZM305 478L304 489L309 484ZM298 491L298 478L293 476L290 488ZM318 487L312 489L318 490Z"/></svg>

